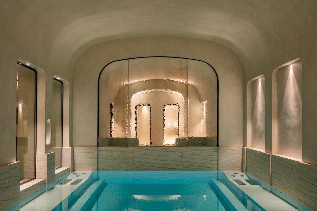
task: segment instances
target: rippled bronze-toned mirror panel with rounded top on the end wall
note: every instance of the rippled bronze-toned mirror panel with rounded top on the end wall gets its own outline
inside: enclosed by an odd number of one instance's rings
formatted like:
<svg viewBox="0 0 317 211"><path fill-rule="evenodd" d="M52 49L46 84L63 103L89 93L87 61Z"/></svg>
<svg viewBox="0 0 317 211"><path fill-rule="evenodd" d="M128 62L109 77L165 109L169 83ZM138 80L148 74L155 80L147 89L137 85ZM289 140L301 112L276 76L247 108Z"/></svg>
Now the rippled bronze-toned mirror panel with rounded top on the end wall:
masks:
<svg viewBox="0 0 317 211"><path fill-rule="evenodd" d="M218 79L173 57L112 62L99 77L99 146L217 146Z"/></svg>

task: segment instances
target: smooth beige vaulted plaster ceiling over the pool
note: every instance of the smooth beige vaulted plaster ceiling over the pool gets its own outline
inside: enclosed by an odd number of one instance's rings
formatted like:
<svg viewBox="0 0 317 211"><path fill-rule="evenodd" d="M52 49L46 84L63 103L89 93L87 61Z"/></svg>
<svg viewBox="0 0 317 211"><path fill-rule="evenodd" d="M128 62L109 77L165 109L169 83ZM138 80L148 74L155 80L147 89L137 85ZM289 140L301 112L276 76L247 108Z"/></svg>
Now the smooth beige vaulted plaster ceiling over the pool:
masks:
<svg viewBox="0 0 317 211"><path fill-rule="evenodd" d="M248 69L270 59L268 52L312 36L316 8L315 0L1 0L0 36L17 52L70 72L89 47L142 36L216 42Z"/></svg>

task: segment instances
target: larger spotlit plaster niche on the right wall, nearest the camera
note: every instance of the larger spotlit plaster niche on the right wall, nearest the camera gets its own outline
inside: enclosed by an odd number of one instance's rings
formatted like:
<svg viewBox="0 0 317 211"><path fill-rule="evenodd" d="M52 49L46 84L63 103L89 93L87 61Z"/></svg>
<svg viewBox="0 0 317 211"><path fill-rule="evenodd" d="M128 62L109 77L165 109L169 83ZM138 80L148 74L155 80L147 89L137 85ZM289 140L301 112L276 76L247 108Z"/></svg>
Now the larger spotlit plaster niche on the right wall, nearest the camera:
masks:
<svg viewBox="0 0 317 211"><path fill-rule="evenodd" d="M295 59L273 71L272 151L302 159L302 67Z"/></svg>

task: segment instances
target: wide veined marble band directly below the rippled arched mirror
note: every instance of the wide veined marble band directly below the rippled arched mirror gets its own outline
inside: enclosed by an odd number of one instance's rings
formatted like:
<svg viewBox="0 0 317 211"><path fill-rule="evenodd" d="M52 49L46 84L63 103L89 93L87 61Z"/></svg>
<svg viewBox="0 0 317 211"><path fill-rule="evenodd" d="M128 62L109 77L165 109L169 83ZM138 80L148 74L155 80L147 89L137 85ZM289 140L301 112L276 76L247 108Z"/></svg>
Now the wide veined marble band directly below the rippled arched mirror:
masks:
<svg viewBox="0 0 317 211"><path fill-rule="evenodd" d="M218 148L102 146L97 160L101 171L217 171Z"/></svg>

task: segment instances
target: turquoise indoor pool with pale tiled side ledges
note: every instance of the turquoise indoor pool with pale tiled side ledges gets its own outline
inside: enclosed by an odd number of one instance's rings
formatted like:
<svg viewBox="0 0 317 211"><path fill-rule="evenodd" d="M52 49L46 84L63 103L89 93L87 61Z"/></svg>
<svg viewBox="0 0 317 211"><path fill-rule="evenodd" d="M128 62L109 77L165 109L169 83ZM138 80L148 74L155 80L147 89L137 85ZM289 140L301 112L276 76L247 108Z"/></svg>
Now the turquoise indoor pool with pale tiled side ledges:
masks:
<svg viewBox="0 0 317 211"><path fill-rule="evenodd" d="M310 210L258 182L239 171L77 171L20 210Z"/></svg>

